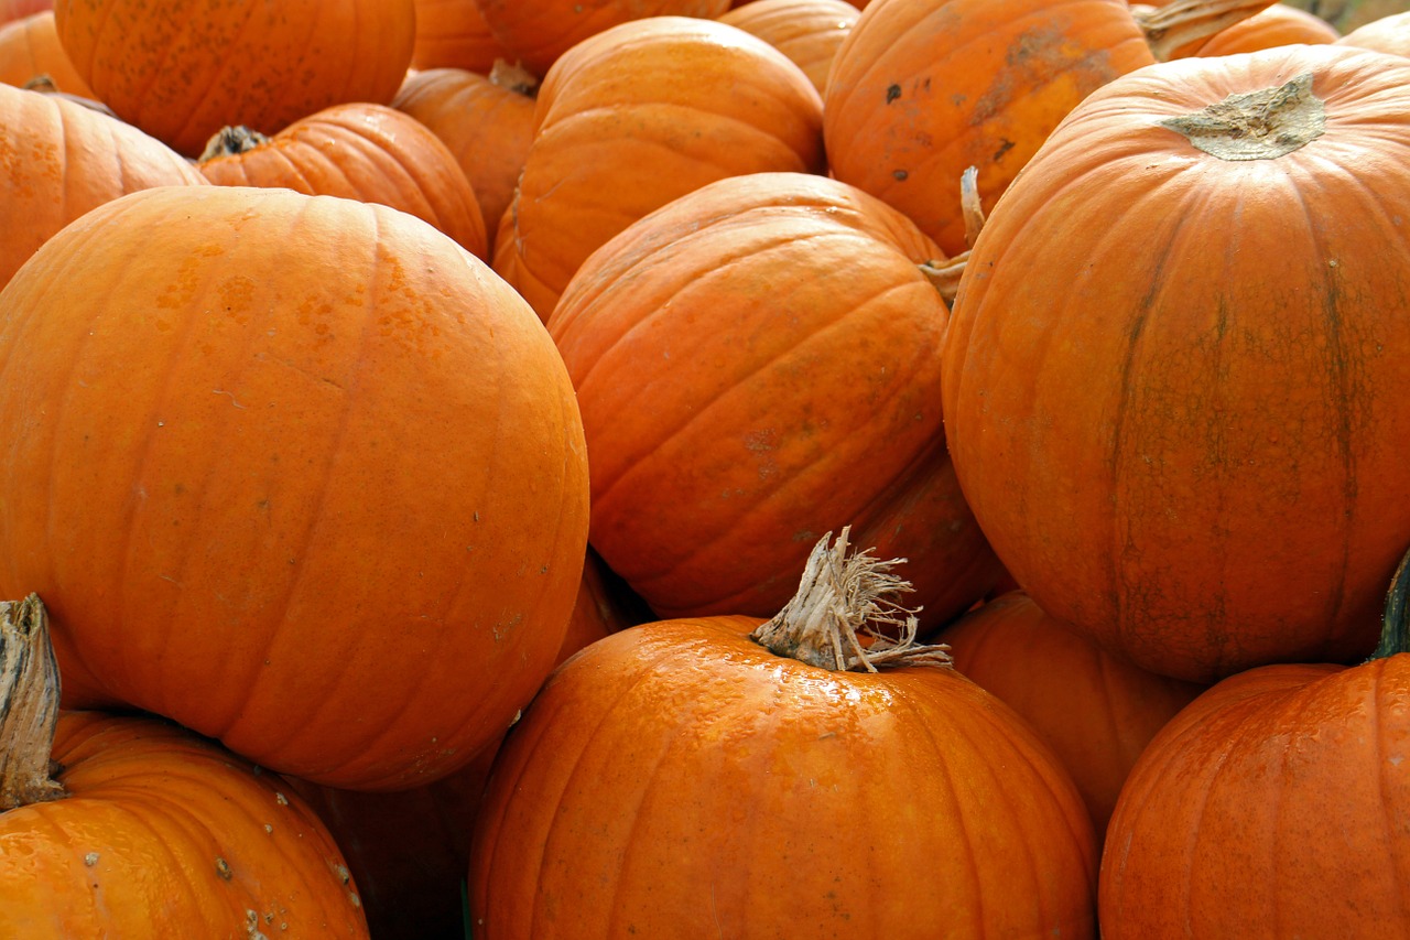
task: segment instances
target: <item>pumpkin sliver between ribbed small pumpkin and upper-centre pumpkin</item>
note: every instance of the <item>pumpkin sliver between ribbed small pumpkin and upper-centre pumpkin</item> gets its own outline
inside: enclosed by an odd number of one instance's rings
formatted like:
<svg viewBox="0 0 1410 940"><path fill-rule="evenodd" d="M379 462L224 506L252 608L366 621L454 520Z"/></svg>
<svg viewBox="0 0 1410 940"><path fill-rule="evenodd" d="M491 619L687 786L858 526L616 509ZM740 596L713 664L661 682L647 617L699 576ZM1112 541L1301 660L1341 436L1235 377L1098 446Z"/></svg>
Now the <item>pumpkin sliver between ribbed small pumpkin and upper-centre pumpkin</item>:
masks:
<svg viewBox="0 0 1410 940"><path fill-rule="evenodd" d="M392 107L429 127L455 157L491 247L533 141L536 90L533 76L501 62L489 75L454 68L409 75L392 99Z"/></svg>

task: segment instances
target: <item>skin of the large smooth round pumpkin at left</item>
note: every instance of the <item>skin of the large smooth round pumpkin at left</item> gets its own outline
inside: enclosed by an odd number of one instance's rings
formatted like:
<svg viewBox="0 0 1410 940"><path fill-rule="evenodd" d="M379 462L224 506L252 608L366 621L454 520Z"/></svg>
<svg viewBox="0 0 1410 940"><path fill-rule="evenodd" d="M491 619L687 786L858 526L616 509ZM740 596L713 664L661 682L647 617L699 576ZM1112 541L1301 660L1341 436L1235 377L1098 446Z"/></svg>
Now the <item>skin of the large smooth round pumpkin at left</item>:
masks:
<svg viewBox="0 0 1410 940"><path fill-rule="evenodd" d="M70 704L402 789L551 669L582 425L543 325L447 236L288 189L149 189L51 239L0 311L24 442L0 582L44 591Z"/></svg>

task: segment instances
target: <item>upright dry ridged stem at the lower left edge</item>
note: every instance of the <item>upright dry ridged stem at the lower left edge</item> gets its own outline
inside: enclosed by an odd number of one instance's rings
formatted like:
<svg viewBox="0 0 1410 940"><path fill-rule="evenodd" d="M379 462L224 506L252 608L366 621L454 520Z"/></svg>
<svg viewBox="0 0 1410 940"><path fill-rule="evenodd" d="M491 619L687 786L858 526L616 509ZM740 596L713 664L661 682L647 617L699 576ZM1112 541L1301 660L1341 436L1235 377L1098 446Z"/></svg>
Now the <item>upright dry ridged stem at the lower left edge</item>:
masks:
<svg viewBox="0 0 1410 940"><path fill-rule="evenodd" d="M49 755L59 723L59 666L38 594L0 603L0 812L63 796Z"/></svg>

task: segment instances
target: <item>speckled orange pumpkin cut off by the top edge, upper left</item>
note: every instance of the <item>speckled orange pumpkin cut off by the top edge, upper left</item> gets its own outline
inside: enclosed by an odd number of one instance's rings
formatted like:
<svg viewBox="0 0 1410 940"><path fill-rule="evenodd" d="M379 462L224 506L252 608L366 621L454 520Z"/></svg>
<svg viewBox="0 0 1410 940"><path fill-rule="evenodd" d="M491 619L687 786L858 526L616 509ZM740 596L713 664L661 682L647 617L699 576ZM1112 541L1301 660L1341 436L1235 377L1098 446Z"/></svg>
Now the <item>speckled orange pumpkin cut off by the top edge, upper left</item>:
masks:
<svg viewBox="0 0 1410 940"><path fill-rule="evenodd" d="M186 157L226 126L275 133L330 104L392 100L413 0L58 0L59 41L123 120Z"/></svg>

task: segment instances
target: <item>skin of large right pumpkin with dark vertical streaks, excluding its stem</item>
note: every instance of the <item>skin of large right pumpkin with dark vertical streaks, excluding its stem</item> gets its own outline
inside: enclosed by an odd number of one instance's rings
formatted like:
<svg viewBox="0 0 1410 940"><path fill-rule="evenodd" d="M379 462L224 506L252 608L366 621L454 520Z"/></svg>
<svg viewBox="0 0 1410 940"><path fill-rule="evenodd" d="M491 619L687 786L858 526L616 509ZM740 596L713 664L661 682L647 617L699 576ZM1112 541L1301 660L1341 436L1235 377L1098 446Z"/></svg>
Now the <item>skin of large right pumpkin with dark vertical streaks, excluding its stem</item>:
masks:
<svg viewBox="0 0 1410 940"><path fill-rule="evenodd" d="M1282 157L1158 123L1304 73L1325 128ZM1208 682L1375 642L1410 531L1407 88L1407 64L1335 45L1145 69L1089 97L979 236L945 340L966 498L1043 610L1145 669Z"/></svg>

